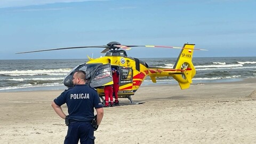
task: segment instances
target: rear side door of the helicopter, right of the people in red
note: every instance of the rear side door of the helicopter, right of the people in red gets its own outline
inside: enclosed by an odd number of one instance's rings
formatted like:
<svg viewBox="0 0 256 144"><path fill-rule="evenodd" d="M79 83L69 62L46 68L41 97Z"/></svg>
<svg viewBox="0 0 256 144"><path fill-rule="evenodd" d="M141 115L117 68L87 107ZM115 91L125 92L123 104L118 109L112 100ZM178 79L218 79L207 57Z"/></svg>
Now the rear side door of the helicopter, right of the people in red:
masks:
<svg viewBox="0 0 256 144"><path fill-rule="evenodd" d="M121 68L119 87L124 90L132 90L132 69ZM124 86L125 85L125 86Z"/></svg>

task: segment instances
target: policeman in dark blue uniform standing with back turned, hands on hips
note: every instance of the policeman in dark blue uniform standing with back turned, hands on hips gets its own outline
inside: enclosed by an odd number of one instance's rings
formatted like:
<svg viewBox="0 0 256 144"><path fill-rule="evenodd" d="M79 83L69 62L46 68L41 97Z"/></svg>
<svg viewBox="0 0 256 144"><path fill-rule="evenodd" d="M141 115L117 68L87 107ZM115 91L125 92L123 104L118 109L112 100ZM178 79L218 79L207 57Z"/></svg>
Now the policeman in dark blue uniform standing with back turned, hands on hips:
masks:
<svg viewBox="0 0 256 144"><path fill-rule="evenodd" d="M68 107L68 132L64 143L94 143L95 137L92 119L94 109L97 111L97 125L103 118L103 106L100 102L98 93L85 84L85 72L76 71L73 76L73 88L60 94L53 100L52 107L55 112L63 119L67 116L63 113L61 105L67 103Z"/></svg>

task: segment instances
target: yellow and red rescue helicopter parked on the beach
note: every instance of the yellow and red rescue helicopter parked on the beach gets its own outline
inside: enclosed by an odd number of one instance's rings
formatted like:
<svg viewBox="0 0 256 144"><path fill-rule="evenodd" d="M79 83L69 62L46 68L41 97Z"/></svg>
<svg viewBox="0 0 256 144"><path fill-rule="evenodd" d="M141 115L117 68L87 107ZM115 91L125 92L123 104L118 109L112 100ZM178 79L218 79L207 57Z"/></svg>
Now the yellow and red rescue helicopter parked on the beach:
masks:
<svg viewBox="0 0 256 144"><path fill-rule="evenodd" d="M125 50L130 50L131 47L164 47L172 49L181 49L179 57L175 62L173 68L152 67L142 60L128 57ZM115 68L119 73L119 91L118 98L128 98L132 104L132 95L139 89L142 82L147 76L150 77L153 83L157 82L157 77L173 77L180 88L188 89L192 82L192 78L196 75L196 69L193 65L192 58L195 44L185 43L182 47L174 46L156 46L156 45L122 45L118 42L110 42L107 45L98 46L77 46L77 47L63 47L58 49L38 50L20 53L43 52L53 50L65 49L81 49L89 47L105 48L101 53L106 53L105 57L89 58L86 63L73 68L64 78L63 84L67 87L73 87L73 75L77 70L83 70L86 73L86 83L97 90L101 102L105 105L104 86L113 85L113 78L111 69Z"/></svg>

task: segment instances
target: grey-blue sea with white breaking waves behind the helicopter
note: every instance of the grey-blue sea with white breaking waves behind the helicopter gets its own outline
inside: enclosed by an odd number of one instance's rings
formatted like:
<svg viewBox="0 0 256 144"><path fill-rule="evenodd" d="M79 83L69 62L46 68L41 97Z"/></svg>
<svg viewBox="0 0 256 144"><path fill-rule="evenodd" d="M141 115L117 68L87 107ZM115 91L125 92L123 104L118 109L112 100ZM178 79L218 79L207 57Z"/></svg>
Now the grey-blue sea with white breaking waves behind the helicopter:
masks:
<svg viewBox="0 0 256 144"><path fill-rule="evenodd" d="M149 66L173 68L177 58L141 58ZM0 60L0 92L65 90L63 78L88 59ZM193 83L242 81L256 77L256 57L193 58ZM147 77L142 85L178 84L172 77Z"/></svg>

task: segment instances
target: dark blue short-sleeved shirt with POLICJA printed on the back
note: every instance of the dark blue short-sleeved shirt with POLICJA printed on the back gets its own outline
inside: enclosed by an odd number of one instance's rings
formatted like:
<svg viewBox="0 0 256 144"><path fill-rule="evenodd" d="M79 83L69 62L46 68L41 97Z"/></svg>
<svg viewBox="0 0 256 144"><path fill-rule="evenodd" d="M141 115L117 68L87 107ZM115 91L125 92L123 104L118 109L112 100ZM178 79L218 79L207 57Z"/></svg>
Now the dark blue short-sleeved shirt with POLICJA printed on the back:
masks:
<svg viewBox="0 0 256 144"><path fill-rule="evenodd" d="M94 118L93 108L103 107L97 91L86 84L76 85L62 92L54 102L58 106L67 103L69 118L85 122Z"/></svg>

